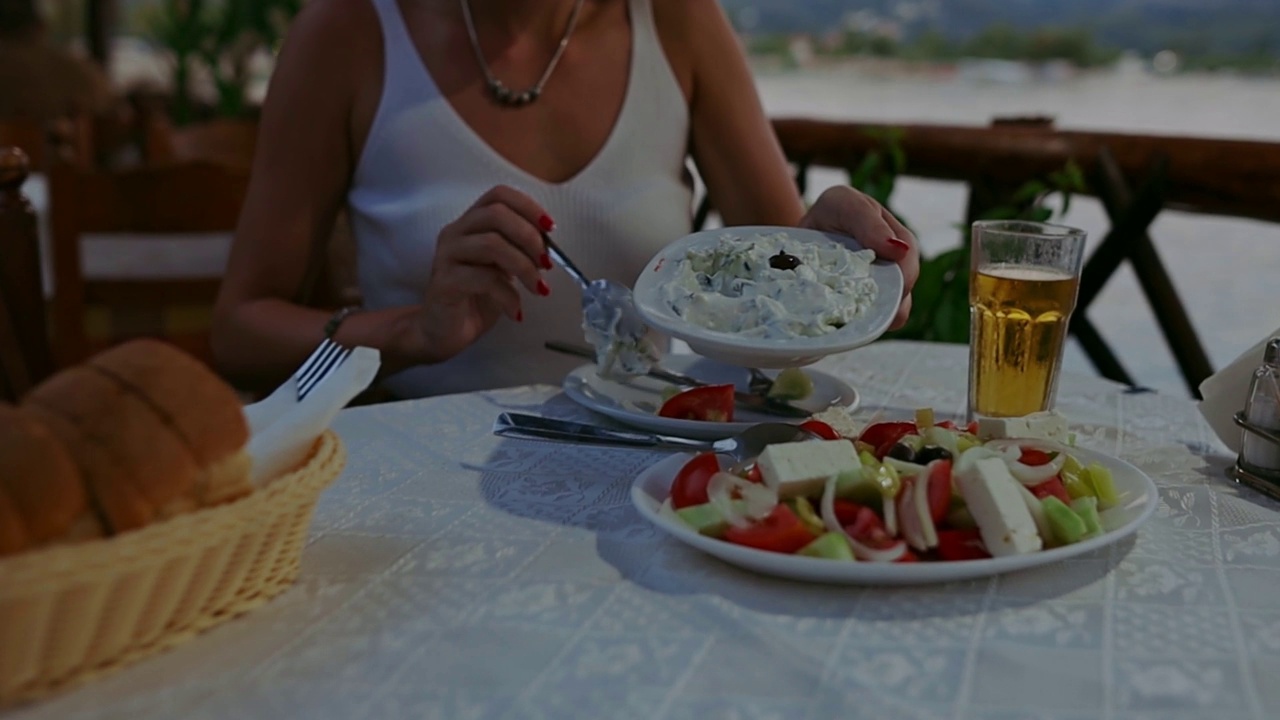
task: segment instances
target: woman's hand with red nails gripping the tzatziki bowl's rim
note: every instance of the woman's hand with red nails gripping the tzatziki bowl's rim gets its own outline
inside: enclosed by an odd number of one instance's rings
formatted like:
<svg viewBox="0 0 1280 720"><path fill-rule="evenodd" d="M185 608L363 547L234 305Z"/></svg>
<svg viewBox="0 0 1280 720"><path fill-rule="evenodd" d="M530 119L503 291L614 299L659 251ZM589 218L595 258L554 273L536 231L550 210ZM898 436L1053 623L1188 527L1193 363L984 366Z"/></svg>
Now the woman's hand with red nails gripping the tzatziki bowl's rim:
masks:
<svg viewBox="0 0 1280 720"><path fill-rule="evenodd" d="M911 314L911 288L920 275L920 250L906 225L869 196L849 186L836 186L818 197L801 218L800 227L852 236L877 256L897 263L902 269L902 302L892 329L906 324Z"/></svg>

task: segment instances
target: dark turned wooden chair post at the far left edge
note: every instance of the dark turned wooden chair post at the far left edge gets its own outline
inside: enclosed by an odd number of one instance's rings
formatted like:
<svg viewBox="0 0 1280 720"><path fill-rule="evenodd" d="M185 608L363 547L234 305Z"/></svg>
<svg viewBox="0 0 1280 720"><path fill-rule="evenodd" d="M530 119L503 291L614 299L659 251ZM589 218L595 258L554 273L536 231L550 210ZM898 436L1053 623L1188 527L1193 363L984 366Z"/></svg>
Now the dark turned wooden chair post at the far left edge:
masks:
<svg viewBox="0 0 1280 720"><path fill-rule="evenodd" d="M0 400L9 402L54 372L36 213L20 191L28 170L22 150L0 149Z"/></svg>

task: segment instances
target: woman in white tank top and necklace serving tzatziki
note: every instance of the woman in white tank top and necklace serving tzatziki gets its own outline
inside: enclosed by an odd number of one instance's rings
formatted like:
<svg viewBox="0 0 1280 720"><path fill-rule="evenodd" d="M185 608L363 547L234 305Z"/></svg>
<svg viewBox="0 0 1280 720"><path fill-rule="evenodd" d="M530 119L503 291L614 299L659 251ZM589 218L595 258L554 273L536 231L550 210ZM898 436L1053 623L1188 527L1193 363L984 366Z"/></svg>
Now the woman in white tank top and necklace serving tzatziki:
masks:
<svg viewBox="0 0 1280 720"><path fill-rule="evenodd" d="M215 354L279 382L330 334L378 347L402 397L558 383L576 361L543 343L581 342L580 295L539 231L631 283L690 231L689 156L726 224L801 222L714 0L315 0L262 111ZM364 307L292 304L343 206ZM914 281L910 233L860 193L805 222Z"/></svg>

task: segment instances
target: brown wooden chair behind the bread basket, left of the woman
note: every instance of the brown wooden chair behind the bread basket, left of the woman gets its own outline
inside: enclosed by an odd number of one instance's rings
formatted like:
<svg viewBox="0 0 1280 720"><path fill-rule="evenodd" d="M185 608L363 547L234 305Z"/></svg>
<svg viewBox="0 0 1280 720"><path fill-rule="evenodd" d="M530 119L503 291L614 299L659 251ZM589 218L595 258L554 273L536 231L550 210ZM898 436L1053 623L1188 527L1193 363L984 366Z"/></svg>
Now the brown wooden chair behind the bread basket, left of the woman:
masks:
<svg viewBox="0 0 1280 720"><path fill-rule="evenodd" d="M211 361L209 325L221 266L157 274L138 261L124 277L86 277L83 249L111 241L180 243L174 236L230 234L248 188L248 170L180 163L129 172L55 167L52 345L59 365L131 337L159 337ZM177 247L182 247L178 245ZM182 251L179 251L182 255Z"/></svg>

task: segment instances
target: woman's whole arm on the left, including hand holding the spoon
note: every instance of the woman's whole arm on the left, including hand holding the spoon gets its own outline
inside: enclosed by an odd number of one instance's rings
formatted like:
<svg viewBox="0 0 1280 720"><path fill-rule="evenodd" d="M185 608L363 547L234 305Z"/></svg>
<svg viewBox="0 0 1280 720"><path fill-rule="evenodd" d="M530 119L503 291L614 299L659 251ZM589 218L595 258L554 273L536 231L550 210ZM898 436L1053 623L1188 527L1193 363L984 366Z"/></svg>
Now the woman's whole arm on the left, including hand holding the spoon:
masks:
<svg viewBox="0 0 1280 720"><path fill-rule="evenodd" d="M262 110L253 177L214 313L223 370L273 387L320 343L330 311L297 305L312 247L329 241L381 96L381 33L369 3L315 0L298 15ZM485 192L435 238L420 301L356 313L334 334L375 347L384 372L447 360L547 295L547 210L508 187Z"/></svg>

